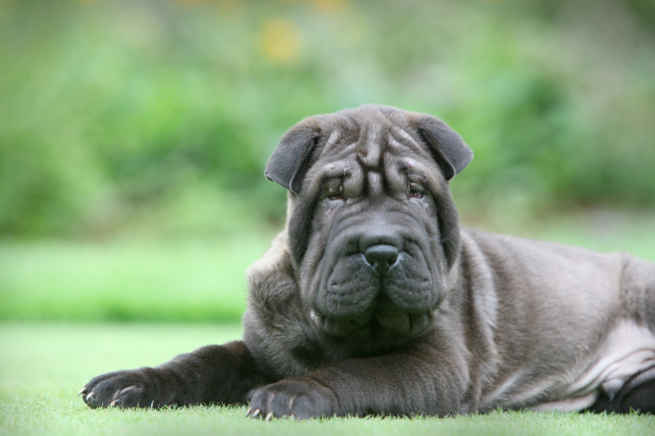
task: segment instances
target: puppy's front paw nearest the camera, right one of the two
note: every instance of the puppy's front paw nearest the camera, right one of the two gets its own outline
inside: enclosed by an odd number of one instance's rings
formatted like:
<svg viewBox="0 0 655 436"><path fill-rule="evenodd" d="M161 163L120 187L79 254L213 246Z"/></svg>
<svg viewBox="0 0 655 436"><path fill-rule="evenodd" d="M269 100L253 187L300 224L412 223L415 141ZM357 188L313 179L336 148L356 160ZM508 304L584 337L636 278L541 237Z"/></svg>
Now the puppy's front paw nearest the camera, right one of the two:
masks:
<svg viewBox="0 0 655 436"><path fill-rule="evenodd" d="M326 386L310 378L289 378L255 390L248 416L270 420L273 416L297 419L333 416L337 397Z"/></svg>

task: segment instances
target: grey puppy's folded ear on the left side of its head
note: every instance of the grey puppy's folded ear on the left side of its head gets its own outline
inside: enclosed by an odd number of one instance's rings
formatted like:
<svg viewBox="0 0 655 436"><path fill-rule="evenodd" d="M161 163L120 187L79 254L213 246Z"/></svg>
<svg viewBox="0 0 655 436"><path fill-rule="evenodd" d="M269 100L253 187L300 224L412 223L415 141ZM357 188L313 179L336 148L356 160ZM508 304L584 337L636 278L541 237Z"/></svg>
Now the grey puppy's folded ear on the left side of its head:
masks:
<svg viewBox="0 0 655 436"><path fill-rule="evenodd" d="M305 118L291 127L266 164L266 178L299 193L319 135L320 127L315 117Z"/></svg>

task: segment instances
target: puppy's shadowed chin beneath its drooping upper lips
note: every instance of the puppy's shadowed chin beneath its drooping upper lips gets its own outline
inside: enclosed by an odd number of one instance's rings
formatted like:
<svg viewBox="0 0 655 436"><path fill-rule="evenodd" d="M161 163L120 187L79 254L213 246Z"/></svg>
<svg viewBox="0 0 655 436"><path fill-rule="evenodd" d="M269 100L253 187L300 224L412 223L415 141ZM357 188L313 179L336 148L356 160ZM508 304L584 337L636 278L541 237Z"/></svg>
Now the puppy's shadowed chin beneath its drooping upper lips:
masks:
<svg viewBox="0 0 655 436"><path fill-rule="evenodd" d="M422 313L377 309L348 320L327 318L313 310L310 315L316 327L329 337L379 342L420 335L432 326L436 309Z"/></svg>

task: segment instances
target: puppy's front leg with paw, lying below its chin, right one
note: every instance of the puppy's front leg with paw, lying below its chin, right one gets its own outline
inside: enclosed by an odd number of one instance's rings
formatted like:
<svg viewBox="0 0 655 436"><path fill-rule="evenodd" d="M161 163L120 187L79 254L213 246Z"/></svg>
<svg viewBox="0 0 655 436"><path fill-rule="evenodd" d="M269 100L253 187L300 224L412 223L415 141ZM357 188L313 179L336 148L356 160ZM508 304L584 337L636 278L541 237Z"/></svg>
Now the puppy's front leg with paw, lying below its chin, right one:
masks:
<svg viewBox="0 0 655 436"><path fill-rule="evenodd" d="M253 418L272 416L445 416L466 412L465 365L432 352L398 352L331 363L252 393Z"/></svg>

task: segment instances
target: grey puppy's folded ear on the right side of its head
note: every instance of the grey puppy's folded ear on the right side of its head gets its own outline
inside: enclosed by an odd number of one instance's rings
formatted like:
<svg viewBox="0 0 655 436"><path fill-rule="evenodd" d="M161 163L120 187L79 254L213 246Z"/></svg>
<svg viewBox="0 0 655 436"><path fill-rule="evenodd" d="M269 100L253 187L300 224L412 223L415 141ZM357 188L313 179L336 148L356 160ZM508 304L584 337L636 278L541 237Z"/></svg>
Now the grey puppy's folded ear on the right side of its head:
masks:
<svg viewBox="0 0 655 436"><path fill-rule="evenodd" d="M439 118L411 113L408 119L424 143L430 147L446 180L458 175L473 159L473 150L468 148L457 132Z"/></svg>

